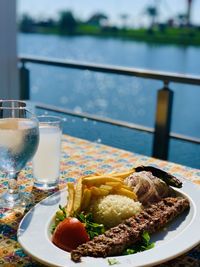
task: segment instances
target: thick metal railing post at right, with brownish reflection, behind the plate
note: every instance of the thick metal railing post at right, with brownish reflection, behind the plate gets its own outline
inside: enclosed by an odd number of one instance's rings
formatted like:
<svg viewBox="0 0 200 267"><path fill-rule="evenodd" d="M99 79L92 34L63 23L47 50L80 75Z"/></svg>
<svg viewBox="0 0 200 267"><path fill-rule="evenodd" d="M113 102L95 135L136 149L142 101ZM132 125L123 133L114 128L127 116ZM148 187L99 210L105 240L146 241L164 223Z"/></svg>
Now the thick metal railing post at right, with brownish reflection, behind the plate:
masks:
<svg viewBox="0 0 200 267"><path fill-rule="evenodd" d="M155 133L153 140L153 157L167 160L170 139L173 91L168 88L168 81L158 91L155 119Z"/></svg>

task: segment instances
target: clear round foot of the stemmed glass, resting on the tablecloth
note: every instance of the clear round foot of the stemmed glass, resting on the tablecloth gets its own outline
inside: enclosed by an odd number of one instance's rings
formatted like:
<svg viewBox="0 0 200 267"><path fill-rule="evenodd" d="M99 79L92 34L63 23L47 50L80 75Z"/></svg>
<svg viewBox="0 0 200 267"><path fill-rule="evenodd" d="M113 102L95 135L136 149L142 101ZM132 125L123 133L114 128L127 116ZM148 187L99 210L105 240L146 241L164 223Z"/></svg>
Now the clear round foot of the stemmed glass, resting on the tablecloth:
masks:
<svg viewBox="0 0 200 267"><path fill-rule="evenodd" d="M34 197L32 194L24 192L19 194L10 194L9 192L1 195L0 208L15 209L15 208L29 208L34 204Z"/></svg>

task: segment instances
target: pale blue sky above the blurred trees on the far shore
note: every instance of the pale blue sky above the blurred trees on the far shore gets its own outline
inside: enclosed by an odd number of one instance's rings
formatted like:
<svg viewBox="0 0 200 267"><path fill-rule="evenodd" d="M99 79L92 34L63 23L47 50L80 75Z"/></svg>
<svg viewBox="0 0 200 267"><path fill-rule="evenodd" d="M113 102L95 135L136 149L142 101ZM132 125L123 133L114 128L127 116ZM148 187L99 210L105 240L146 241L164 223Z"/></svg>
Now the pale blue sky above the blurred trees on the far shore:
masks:
<svg viewBox="0 0 200 267"><path fill-rule="evenodd" d="M35 18L56 18L59 11L71 10L77 18L87 19L95 12L109 16L111 23L119 22L121 14L128 15L132 25L146 24L145 8L158 3L160 22L185 13L187 0L17 0L18 14L28 13ZM193 0L192 22L200 24L200 0Z"/></svg>

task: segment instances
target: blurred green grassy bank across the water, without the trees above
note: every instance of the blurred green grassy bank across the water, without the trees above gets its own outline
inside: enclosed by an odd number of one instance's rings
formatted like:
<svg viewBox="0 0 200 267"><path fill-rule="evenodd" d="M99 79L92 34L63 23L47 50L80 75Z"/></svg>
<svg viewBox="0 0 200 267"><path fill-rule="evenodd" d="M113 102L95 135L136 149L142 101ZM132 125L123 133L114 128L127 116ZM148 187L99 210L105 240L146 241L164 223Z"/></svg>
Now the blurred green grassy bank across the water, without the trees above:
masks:
<svg viewBox="0 0 200 267"><path fill-rule="evenodd" d="M200 46L199 28L165 28L165 29L118 29L116 27L97 27L93 25L79 25L73 33L58 27L35 27L23 33L55 34L64 36L99 36L143 41L158 44L177 44Z"/></svg>

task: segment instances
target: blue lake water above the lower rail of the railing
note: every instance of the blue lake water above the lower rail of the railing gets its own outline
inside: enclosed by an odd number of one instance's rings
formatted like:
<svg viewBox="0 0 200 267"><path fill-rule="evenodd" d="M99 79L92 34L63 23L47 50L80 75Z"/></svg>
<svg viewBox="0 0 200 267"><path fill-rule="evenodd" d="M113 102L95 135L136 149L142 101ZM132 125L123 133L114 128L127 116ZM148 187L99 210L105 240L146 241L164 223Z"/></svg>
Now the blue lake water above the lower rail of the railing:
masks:
<svg viewBox="0 0 200 267"><path fill-rule="evenodd" d="M200 47L153 45L98 37L19 34L19 54L200 75ZM162 82L28 64L31 99L154 126ZM172 131L200 137L200 88L171 83Z"/></svg>

